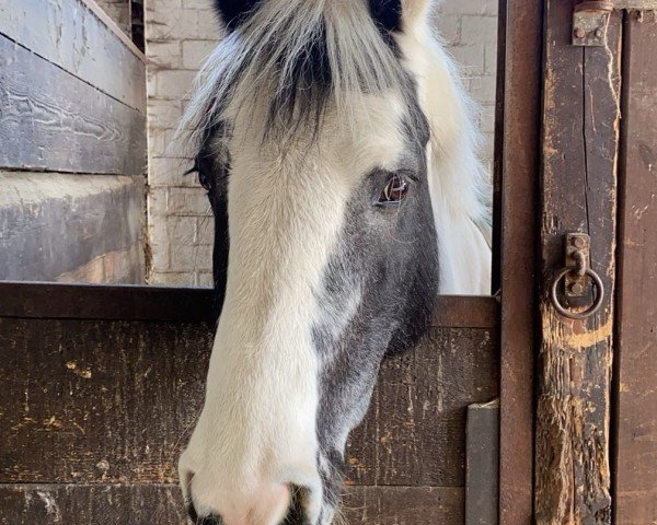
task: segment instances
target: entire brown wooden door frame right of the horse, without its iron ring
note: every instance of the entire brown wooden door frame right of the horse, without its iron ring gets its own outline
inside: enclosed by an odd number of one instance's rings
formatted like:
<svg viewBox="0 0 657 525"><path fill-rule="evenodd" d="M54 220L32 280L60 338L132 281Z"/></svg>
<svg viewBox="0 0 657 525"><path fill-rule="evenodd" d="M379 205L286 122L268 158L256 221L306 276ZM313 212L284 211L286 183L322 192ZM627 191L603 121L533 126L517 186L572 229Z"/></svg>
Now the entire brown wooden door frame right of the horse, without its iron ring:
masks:
<svg viewBox="0 0 657 525"><path fill-rule="evenodd" d="M591 48L572 45L576 3L500 1L495 260L505 525L643 524L657 515L655 368L639 358L656 315L645 273L654 276L657 249L646 234L655 221L647 97L657 77L645 65L654 61L657 15L639 26L637 12L621 12L657 2L613 1L607 46ZM607 289L585 322L560 317L549 298L565 234L577 231L590 233L591 267Z"/></svg>

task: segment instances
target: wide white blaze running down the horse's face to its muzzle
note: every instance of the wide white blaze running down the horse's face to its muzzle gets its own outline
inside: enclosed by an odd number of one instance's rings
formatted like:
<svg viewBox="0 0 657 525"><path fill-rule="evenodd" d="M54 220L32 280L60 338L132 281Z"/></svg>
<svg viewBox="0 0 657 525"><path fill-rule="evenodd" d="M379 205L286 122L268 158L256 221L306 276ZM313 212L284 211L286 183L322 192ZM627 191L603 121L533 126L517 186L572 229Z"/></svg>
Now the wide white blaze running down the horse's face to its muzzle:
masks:
<svg viewBox="0 0 657 525"><path fill-rule="evenodd" d="M199 514L228 525L244 516L240 523L277 525L289 503L280 497L286 483L311 489L312 523L320 514L316 292L351 191L376 166L393 166L406 144L399 98L367 102L355 109L368 117L360 129L341 129L327 116L315 145L285 154L263 145L251 126L233 129L226 300L206 404L181 459ZM355 293L336 330L358 301Z"/></svg>

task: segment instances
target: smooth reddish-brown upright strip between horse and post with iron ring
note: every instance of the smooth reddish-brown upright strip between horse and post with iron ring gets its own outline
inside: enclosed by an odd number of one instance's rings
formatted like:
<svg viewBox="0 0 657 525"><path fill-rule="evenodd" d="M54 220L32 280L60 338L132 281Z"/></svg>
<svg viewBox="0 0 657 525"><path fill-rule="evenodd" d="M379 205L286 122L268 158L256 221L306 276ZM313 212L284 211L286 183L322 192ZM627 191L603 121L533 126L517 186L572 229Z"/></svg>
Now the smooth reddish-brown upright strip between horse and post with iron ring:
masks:
<svg viewBox="0 0 657 525"><path fill-rule="evenodd" d="M533 514L534 355L543 2L502 0L505 43L497 70L504 106L496 150L500 179L499 523ZM499 115L499 113L498 113Z"/></svg>

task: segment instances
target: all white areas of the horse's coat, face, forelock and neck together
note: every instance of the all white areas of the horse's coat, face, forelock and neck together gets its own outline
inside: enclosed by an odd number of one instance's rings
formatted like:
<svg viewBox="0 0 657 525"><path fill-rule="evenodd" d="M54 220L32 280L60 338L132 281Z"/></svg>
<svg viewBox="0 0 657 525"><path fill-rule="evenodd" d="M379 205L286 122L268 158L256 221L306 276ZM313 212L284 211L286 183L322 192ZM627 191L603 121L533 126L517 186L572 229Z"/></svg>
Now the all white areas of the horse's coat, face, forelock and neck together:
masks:
<svg viewBox="0 0 657 525"><path fill-rule="evenodd" d="M489 250L479 222L486 215L480 195L486 184L475 155L476 133L451 61L429 33L429 3L403 0L404 34L396 39L431 126L427 160L440 288L443 293L486 293ZM378 85L379 77L388 78L399 69L396 58L381 47L376 27L362 25L365 0L285 0L264 5L255 13L261 20L250 26L245 40L239 35L229 37L218 48L192 103L192 114L204 112L214 96L219 98L216 91L227 90L244 57L265 52L266 33L279 31L283 47L276 49L284 55L250 62L234 104L257 98L262 77L253 68L261 63L292 67L295 62L285 56L293 48L290 43L308 36L312 21L324 14L326 31L336 37L328 50L332 68L338 77L347 73L338 80L336 103L349 124L330 113L319 147L310 147L303 138L285 145L263 145L262 129L255 122L266 120L266 108L245 104L251 124L235 107L221 110L222 118L237 121L230 140L229 276L206 404L181 458L181 479L198 514L219 514L226 525L279 525L290 503L288 483L310 490L310 501L304 501L310 523L318 525L323 512L321 525L328 525L334 510L322 509L324 488L318 468L331 471L334 466L318 444L323 363L313 348L312 326L323 316L334 316L330 336L338 338L358 310L361 290L355 288L342 310L318 305L318 292L344 230L350 195L374 167L399 167L405 149L401 122L407 108L401 96L361 92L362 85ZM362 66L366 61L374 65L371 70ZM354 74L358 68L365 71L365 81ZM399 85L399 78L391 85ZM349 106L351 94L357 102ZM335 424L337 443L328 446L342 452L355 421Z"/></svg>

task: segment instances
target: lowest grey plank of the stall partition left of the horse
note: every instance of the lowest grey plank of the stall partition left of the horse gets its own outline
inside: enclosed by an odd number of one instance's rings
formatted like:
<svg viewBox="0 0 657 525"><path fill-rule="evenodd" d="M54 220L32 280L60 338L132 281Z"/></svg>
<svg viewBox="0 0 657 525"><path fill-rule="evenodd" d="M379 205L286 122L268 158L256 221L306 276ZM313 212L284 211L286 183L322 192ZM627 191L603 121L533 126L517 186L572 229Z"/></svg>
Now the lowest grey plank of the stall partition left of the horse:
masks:
<svg viewBox="0 0 657 525"><path fill-rule="evenodd" d="M141 179L0 171L0 280L143 282Z"/></svg>

